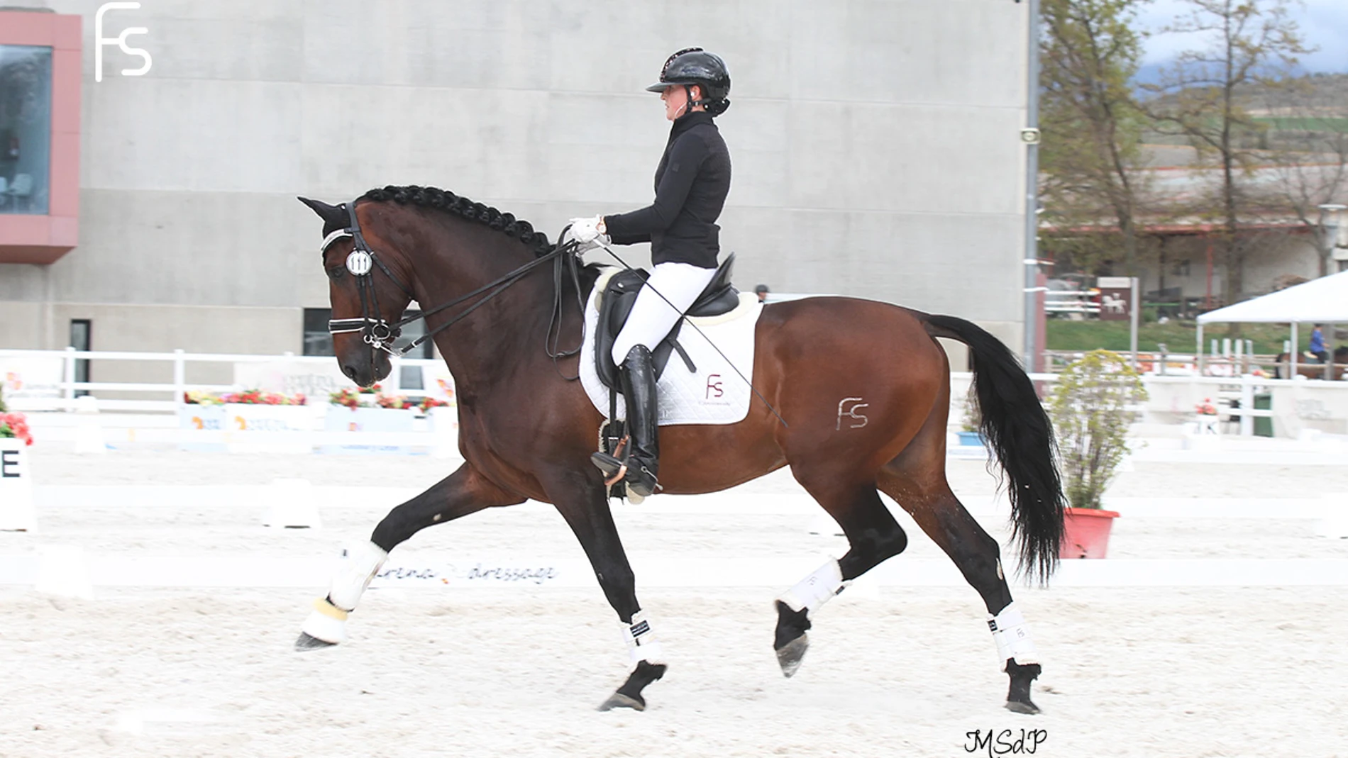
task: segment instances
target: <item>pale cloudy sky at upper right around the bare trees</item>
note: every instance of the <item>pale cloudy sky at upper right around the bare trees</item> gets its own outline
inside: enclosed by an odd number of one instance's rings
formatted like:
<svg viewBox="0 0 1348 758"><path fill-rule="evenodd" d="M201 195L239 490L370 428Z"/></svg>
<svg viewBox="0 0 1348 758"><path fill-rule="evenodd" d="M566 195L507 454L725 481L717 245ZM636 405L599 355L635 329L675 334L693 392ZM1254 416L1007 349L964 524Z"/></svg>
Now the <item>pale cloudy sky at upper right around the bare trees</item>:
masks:
<svg viewBox="0 0 1348 758"><path fill-rule="evenodd" d="M1154 0L1143 5L1138 20L1143 28L1159 30L1192 7L1184 0ZM1290 11L1306 46L1320 48L1304 55L1302 66L1310 71L1348 74L1348 0L1305 0L1304 4L1291 3ZM1143 62L1159 63L1182 50L1201 47L1201 42L1186 36L1154 35L1146 43Z"/></svg>

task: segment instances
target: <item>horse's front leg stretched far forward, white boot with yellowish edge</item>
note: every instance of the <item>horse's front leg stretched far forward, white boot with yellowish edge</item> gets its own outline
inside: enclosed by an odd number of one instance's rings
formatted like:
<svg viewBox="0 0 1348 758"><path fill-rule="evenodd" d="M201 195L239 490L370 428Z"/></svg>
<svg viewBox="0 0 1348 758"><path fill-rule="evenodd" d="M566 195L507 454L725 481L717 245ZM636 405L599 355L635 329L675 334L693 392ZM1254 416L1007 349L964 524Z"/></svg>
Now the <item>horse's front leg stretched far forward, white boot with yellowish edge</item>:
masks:
<svg viewBox="0 0 1348 758"><path fill-rule="evenodd" d="M360 596L388 560L394 547L426 526L453 521L493 505L519 502L524 499L501 490L469 463L464 463L429 490L390 510L375 526L368 543L342 556L328 595L314 600L314 610L301 626L295 649L315 650L346 641L346 617L356 610Z"/></svg>

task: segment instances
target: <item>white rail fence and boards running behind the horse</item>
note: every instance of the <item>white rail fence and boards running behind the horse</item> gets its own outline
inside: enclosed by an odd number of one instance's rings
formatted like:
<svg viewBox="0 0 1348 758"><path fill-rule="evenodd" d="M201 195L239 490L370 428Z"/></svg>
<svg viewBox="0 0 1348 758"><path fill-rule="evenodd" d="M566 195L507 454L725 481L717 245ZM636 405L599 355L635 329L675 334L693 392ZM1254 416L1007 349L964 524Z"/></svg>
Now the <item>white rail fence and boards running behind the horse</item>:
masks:
<svg viewBox="0 0 1348 758"><path fill-rule="evenodd" d="M1171 355L1184 361L1182 355ZM119 362L171 368L171 381L75 381L78 361L97 365ZM190 384L186 381L193 364L226 365L233 372L231 384ZM394 358L394 370L381 382L387 394L410 399L439 396L453 400L453 378L439 359ZM404 369L412 369L406 372ZM142 372L154 373L155 369ZM217 369L218 370L218 369ZM124 372L125 373L125 372ZM421 386L404 388L404 374L419 378ZM1031 374L1043 388L1057 381L1051 373ZM386 448L399 452L437 452L457 455L457 409L439 408L429 415L391 412L402 419L392 427L346 424L333 428L325 424L330 405L328 393L353 388L341 376L332 357L307 355L253 355L205 354L174 350L171 353L135 351L80 351L67 350L0 350L0 380L4 381L5 403L12 411L31 415L35 429L44 439L77 442L81 438L97 446L93 438L109 444L160 443L198 446L201 450L309 452L315 448L332 451L332 446ZM964 397L972 374L952 374L950 429L958 429L964 417ZM1283 439L1337 440L1348 436L1348 381L1271 380L1256 376L1143 376L1148 400L1134 408L1138 412L1138 436L1202 436L1239 435L1275 436ZM205 415L216 413L206 405L183 401L187 392L241 392L264 389L294 394L303 392L310 405L295 407L232 407L243 408L237 417L210 421ZM1046 389L1046 388L1045 388ZM89 393L94 399L80 397ZM1213 404L1216 417L1198 416L1196 407ZM266 420L267 413L288 413L290 420ZM194 420L194 424L185 423ZM256 419L256 421L251 421ZM298 419L298 420L297 420ZM1259 419L1268 421L1260 424ZM359 427L359 431L357 431ZM93 429L93 431L90 431ZM958 452L953 450L952 452ZM981 452L977 446L973 452Z"/></svg>

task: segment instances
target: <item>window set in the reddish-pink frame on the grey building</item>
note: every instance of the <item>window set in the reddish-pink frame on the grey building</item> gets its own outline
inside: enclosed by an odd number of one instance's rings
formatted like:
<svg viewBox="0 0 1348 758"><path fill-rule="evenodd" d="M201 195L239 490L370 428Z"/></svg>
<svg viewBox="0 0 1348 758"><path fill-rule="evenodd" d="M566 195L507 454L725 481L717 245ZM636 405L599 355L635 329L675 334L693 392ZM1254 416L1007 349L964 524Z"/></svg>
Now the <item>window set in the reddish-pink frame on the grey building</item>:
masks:
<svg viewBox="0 0 1348 758"><path fill-rule="evenodd" d="M46 215L51 48L0 44L0 213Z"/></svg>

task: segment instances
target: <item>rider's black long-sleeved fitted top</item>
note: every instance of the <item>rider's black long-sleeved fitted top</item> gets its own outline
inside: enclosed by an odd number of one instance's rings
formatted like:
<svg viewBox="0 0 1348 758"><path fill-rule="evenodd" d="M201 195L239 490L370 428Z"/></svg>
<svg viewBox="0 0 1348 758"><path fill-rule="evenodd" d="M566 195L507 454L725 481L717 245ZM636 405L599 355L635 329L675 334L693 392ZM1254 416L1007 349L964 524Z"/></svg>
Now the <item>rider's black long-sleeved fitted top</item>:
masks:
<svg viewBox="0 0 1348 758"><path fill-rule="evenodd" d="M651 244L652 263L716 268L721 250L716 219L731 191L731 152L712 114L694 110L674 121L655 170L655 202L604 217L613 242Z"/></svg>

